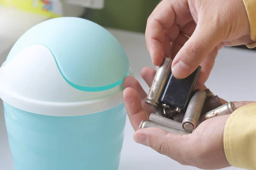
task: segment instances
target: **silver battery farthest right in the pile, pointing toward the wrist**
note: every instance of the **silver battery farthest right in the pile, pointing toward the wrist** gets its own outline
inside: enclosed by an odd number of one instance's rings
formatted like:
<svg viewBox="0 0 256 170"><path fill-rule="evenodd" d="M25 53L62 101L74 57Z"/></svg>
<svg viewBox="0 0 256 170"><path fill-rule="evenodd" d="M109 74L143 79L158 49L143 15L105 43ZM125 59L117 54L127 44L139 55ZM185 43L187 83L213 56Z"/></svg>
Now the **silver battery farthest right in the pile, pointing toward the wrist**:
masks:
<svg viewBox="0 0 256 170"><path fill-rule="evenodd" d="M225 103L224 105L219 106L218 108L213 109L203 115L200 116L200 122L204 122L207 119L216 117L216 116L223 116L226 114L231 114L236 110L236 106L233 102Z"/></svg>

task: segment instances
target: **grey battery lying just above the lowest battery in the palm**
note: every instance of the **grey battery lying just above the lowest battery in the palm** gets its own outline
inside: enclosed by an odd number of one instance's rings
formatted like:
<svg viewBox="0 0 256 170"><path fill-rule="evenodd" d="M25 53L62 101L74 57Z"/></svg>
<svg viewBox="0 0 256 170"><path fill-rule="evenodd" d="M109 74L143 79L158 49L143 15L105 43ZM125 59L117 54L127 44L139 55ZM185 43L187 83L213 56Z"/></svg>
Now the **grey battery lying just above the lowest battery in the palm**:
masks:
<svg viewBox="0 0 256 170"><path fill-rule="evenodd" d="M157 123L159 125L163 125L163 126L166 126L166 127L171 127L171 128L183 130L180 122L176 122L172 119L168 119L166 117L163 117L163 116L160 116L160 115L157 115L157 114L154 114L154 113L151 113L149 115L148 120L150 122L154 122L154 123Z"/></svg>

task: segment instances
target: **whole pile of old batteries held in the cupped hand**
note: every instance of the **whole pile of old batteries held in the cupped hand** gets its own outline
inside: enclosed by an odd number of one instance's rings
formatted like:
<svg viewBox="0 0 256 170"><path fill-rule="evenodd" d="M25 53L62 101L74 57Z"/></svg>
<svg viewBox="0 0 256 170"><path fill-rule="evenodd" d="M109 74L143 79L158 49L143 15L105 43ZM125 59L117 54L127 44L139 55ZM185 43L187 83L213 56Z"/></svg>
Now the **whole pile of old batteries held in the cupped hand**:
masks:
<svg viewBox="0 0 256 170"><path fill-rule="evenodd" d="M201 122L236 110L232 102L222 105L209 89L194 90L201 66L185 79L176 79L171 65L172 59L165 58L159 66L145 100L154 112L139 128L158 127L169 133L189 134Z"/></svg>

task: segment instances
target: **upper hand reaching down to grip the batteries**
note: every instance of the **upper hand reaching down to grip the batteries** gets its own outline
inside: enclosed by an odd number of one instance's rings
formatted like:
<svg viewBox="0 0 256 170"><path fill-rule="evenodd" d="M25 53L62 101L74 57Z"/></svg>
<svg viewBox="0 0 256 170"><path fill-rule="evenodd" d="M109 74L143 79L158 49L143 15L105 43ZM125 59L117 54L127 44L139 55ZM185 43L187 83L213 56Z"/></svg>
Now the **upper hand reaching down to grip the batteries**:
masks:
<svg viewBox="0 0 256 170"><path fill-rule="evenodd" d="M162 0L148 17L145 39L153 64L170 56L177 79L201 65L198 85L208 79L224 45L253 42L243 0Z"/></svg>

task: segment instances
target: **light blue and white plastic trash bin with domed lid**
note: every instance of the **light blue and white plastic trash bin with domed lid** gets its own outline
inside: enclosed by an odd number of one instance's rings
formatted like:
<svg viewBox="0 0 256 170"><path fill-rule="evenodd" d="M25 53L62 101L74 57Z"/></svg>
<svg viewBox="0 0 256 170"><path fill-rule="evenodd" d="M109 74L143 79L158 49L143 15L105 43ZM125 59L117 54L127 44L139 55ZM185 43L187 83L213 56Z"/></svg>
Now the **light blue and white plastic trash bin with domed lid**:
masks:
<svg viewBox="0 0 256 170"><path fill-rule="evenodd" d="M15 170L117 170L132 75L120 43L76 17L44 21L0 68L0 97Z"/></svg>

